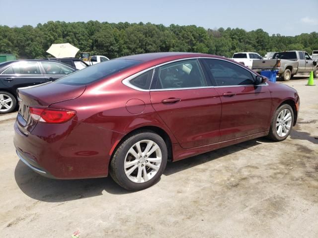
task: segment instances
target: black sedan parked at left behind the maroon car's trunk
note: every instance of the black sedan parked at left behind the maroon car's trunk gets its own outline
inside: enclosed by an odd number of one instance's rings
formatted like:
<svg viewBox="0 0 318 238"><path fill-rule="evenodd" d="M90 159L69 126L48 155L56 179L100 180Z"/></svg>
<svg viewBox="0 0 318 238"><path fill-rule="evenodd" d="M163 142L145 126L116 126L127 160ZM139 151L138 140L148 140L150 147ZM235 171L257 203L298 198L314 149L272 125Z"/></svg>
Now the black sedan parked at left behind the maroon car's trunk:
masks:
<svg viewBox="0 0 318 238"><path fill-rule="evenodd" d="M0 114L10 113L17 102L17 88L54 81L77 69L50 60L14 60L0 63Z"/></svg>

